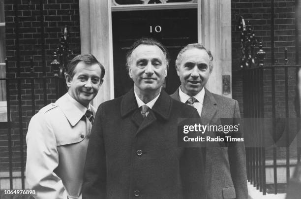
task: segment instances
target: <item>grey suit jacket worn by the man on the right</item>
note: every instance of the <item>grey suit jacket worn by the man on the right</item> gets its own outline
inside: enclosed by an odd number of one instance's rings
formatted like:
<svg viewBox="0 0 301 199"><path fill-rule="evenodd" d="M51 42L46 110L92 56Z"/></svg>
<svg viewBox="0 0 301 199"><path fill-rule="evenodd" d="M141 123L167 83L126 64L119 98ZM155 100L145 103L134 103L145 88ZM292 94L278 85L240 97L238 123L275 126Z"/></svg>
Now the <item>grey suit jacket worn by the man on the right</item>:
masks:
<svg viewBox="0 0 301 199"><path fill-rule="evenodd" d="M171 97L180 101L179 89ZM240 117L237 100L212 94L205 89L201 119L216 123L219 118L235 120ZM208 199L247 199L243 142L236 142L232 147L206 148L205 175Z"/></svg>

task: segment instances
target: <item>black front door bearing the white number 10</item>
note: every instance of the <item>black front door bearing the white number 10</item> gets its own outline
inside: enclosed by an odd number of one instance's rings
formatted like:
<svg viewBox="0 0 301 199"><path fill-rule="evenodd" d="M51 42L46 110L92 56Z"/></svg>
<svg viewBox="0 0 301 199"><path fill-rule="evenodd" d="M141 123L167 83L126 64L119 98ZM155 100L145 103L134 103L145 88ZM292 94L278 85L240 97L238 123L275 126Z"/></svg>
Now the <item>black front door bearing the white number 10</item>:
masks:
<svg viewBox="0 0 301 199"><path fill-rule="evenodd" d="M125 54L142 37L162 42L170 53L165 91L172 94L180 86L175 60L181 48L196 43L197 9L143 10L112 13L115 97L125 94L133 82L126 71Z"/></svg>

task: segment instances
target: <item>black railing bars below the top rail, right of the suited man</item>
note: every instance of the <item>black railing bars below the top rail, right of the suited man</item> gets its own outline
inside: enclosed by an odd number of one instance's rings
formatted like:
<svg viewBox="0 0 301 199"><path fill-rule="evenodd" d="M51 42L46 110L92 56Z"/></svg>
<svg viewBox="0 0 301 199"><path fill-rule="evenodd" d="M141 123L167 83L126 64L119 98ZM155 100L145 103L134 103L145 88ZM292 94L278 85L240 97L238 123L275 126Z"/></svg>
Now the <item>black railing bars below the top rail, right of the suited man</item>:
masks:
<svg viewBox="0 0 301 199"><path fill-rule="evenodd" d="M299 65L262 66L242 71L243 115L244 118L253 118L250 120L252 124L247 124L247 128L244 128L247 139L250 140L248 145L252 146L246 148L247 178L264 195L267 193L266 179L271 177L266 176L266 169L269 168L266 162L271 160L273 186L270 186L270 189L274 194L278 193L277 160L281 159L281 155L277 155L279 147L285 147L285 156L282 155L282 158L285 158L286 179L290 178L292 165L290 161L300 161L298 140L295 149L292 144L295 138L300 139L298 137L300 122L297 120L297 110L295 111L292 105L297 95L292 87L295 87L298 80L296 75L290 75L298 74L300 67ZM279 85L281 82L284 84ZM271 124L268 124L270 121ZM269 133L273 142L267 142ZM270 151L272 154L269 153ZM268 158L266 154L269 154Z"/></svg>

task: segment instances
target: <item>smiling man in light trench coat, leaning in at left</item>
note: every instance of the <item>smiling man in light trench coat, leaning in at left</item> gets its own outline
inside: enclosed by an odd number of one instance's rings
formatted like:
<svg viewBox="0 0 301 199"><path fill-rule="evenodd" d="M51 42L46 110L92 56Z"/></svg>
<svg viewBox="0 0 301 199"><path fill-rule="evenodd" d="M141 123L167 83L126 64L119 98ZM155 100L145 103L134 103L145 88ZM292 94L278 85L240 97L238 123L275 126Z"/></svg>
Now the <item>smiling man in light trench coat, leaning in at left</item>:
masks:
<svg viewBox="0 0 301 199"><path fill-rule="evenodd" d="M105 74L93 55L78 55L68 65L68 92L43 107L26 136L26 180L36 199L81 199L83 170L96 96Z"/></svg>

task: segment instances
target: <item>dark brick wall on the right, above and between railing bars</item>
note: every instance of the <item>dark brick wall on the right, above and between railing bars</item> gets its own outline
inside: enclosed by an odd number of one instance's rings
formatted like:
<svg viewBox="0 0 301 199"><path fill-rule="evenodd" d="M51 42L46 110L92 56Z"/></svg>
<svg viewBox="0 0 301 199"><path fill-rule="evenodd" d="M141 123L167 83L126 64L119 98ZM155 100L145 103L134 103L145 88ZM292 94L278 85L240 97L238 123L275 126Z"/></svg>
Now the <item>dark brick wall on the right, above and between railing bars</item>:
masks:
<svg viewBox="0 0 301 199"><path fill-rule="evenodd" d="M295 0L274 0L274 64L284 64L284 49L288 50L288 64L296 64L296 36L295 36ZM265 65L271 65L271 0L232 0L232 70L233 70L233 98L240 102L241 113L243 115L242 101L242 73L240 71L240 32L238 30L238 20L242 16L245 21L249 21L255 36L263 42L263 50L266 52ZM258 48L256 49L258 51ZM300 56L301 58L301 56ZM283 71L276 70L277 89L284 85ZM289 102L293 103L295 95L294 86L296 85L295 76L289 76ZM271 76L265 76L265 83L271 83ZM270 80L270 81L269 81ZM265 84L265 92L269 95L271 84ZM277 91L277 95L284 96L284 90ZM265 99L265 104L271 106L270 96ZM283 109L284 101L277 98L277 107ZM290 110L292 108L290 107ZM270 109L266 108L267 116L271 114ZM281 111L278 116L282 116Z"/></svg>

